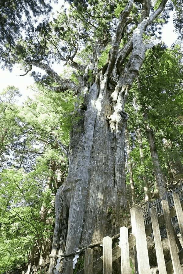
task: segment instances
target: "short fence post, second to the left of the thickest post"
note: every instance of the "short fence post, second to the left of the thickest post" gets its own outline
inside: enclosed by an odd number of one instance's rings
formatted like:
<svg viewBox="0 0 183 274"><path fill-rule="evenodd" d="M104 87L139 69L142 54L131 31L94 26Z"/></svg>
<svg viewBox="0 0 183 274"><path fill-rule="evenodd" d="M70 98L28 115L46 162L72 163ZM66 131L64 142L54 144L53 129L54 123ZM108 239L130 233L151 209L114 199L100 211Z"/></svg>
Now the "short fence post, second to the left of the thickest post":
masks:
<svg viewBox="0 0 183 274"><path fill-rule="evenodd" d="M103 238L103 274L112 274L112 239Z"/></svg>

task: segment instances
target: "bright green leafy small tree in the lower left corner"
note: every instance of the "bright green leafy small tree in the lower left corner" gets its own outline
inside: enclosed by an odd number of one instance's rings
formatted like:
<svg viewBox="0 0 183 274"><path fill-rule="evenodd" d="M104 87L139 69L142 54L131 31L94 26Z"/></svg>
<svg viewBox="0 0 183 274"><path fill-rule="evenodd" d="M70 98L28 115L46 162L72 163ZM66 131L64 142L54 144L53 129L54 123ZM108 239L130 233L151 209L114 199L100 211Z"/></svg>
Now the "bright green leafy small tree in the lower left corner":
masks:
<svg viewBox="0 0 183 274"><path fill-rule="evenodd" d="M21 269L27 263L27 252L31 251L35 237L41 238L47 229L39 222L39 210L45 199L42 176L16 169L1 172L0 273Z"/></svg>

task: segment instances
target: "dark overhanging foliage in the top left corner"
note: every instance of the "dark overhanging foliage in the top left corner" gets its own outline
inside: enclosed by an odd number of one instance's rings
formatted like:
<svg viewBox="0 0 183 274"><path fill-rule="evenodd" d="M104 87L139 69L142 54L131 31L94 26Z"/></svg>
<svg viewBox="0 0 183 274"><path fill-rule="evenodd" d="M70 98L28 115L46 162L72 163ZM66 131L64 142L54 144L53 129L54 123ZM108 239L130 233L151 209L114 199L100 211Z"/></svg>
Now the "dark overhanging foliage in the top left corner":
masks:
<svg viewBox="0 0 183 274"><path fill-rule="evenodd" d="M51 6L44 0L2 0L0 4L0 60L11 68L9 54L27 27L34 29L35 18L48 14ZM31 18L34 17L34 20Z"/></svg>

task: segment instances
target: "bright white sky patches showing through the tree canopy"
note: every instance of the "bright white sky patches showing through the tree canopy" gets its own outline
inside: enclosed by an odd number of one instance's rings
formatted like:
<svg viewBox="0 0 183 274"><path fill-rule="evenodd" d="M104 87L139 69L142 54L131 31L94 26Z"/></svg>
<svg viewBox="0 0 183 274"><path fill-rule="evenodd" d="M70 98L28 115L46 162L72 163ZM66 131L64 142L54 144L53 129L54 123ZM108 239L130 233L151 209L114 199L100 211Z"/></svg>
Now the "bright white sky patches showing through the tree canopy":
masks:
<svg viewBox="0 0 183 274"><path fill-rule="evenodd" d="M57 6L54 7L55 11L59 10L62 4L63 4L63 1L62 0L59 1ZM176 38L177 38L172 20L173 20L173 12L170 12L169 22L165 24L164 27L162 28L162 41L165 44L167 44L169 48L176 41ZM57 73L63 70L63 67L61 64L52 65L52 68ZM41 70L34 67L34 71L38 72ZM25 76L18 76L20 74L23 74L23 70L20 70L20 67L18 65L15 65L13 67L12 72L9 72L8 69L4 69L4 70L0 69L0 79L1 79L0 92L3 90L3 88L7 87L8 85L18 87L20 90L20 93L22 94L22 97L20 98L19 103L22 104L27 97L33 98L34 96L33 91L29 88L29 86L34 85L34 79L33 77L30 77L30 73L28 73Z"/></svg>

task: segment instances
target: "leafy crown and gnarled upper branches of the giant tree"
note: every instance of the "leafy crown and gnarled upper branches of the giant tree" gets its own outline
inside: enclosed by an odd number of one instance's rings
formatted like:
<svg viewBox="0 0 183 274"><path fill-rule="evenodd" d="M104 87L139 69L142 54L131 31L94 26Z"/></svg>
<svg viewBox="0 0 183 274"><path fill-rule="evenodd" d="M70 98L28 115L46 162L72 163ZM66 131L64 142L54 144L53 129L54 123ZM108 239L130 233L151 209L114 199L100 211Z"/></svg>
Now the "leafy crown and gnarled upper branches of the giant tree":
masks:
<svg viewBox="0 0 183 274"><path fill-rule="evenodd" d="M28 8L24 9L27 17L31 9L34 16L50 9L43 3L45 8L40 11L36 6L37 2L31 3L28 2ZM141 43L139 37L142 33L144 33L142 41L146 48L153 46L153 37L160 37L161 25L167 22L168 11L173 5L173 2L167 5L166 0L129 1L128 4L127 1L115 0L69 1L69 3L69 9L63 8L56 18L51 21L44 20L37 27L33 27L33 24L21 23L20 5L17 5L16 9L10 11L12 17L16 20L18 18L20 24L14 24L13 32L10 32L8 30L13 24L12 20L4 16L6 21L3 25L7 30L2 28L1 32L1 39L5 39L2 46L4 62L6 64L21 62L25 66L26 73L32 69L32 66L43 69L46 75L41 80L46 85L51 84L50 88L54 91L71 89L78 92L80 87L75 81L65 80L55 73L50 68L52 62L63 61L64 65L67 64L79 71L75 76L81 83L80 73L84 74L86 65L91 60L92 63L95 62L95 69L87 70L87 78L92 82L91 73L95 76L102 67L103 73L105 72L104 65L107 63L106 57L110 48L108 74L116 63L117 71L113 73L116 81L132 49L134 56L136 55L135 44ZM6 9L4 8L3 11L6 12ZM19 35L20 27L26 27L23 38ZM137 30L140 31L140 36L137 35ZM138 63L137 60L134 62ZM35 73L33 75L36 80L40 80L41 75ZM52 83L57 83L57 87L55 85L53 87Z"/></svg>

